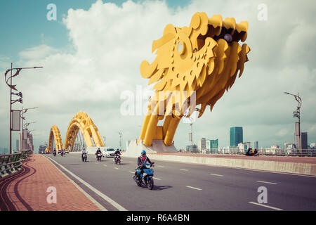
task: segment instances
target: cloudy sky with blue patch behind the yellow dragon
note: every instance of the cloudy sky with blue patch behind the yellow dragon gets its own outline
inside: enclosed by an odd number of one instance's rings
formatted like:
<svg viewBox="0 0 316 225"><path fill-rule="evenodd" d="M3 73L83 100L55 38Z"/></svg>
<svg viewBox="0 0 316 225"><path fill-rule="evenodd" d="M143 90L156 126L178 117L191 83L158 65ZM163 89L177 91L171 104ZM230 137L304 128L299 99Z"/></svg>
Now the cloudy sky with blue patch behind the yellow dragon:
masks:
<svg viewBox="0 0 316 225"><path fill-rule="evenodd" d="M57 6L57 20L47 20L48 4ZM264 4L264 5L262 5ZM262 6L266 6L266 20ZM195 12L209 18L220 14L249 22L246 44L251 47L244 74L193 124L193 138L219 139L229 146L230 127L244 129L244 141L266 148L294 142L292 112L303 100L301 130L308 144L316 142L315 1L18 1L0 2L0 147L9 145L10 91L4 72L11 67L43 66L22 70L13 79L23 93L23 105L39 107L25 114L33 130L34 148L48 141L56 124L62 140L79 110L86 112L106 136L107 146L136 139L143 115L122 115L122 93L147 88L140 75L142 60L152 62L152 41L171 23L190 25ZM144 100L145 103L145 100ZM190 125L180 122L177 148L190 144ZM18 132L13 132L13 147ZM125 144L124 144L125 146Z"/></svg>

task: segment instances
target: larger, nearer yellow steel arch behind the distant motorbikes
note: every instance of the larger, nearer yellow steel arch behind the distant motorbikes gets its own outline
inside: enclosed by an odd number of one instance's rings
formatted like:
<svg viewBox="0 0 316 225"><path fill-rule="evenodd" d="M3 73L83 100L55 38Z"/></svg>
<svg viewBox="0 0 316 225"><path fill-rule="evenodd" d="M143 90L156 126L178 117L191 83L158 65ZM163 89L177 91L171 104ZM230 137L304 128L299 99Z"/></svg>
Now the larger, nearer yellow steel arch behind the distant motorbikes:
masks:
<svg viewBox="0 0 316 225"><path fill-rule="evenodd" d="M86 113L80 111L72 118L72 121L70 121L65 139L65 148L72 151L79 129L84 136L84 141L86 141L87 147L104 146L96 125Z"/></svg>

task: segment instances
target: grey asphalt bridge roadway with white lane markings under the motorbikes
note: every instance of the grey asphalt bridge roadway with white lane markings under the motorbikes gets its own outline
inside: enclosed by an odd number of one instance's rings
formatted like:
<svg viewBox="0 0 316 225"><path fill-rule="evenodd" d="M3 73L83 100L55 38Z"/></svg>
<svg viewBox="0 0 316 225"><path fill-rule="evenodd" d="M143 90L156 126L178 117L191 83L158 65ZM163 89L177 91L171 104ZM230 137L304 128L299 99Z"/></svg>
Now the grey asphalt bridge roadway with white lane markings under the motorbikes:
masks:
<svg viewBox="0 0 316 225"><path fill-rule="evenodd" d="M152 160L154 188L136 186L136 158L45 155L107 210L316 210L316 177ZM57 163L56 163L57 162ZM258 188L268 203L259 204ZM262 199L262 198L261 198Z"/></svg>

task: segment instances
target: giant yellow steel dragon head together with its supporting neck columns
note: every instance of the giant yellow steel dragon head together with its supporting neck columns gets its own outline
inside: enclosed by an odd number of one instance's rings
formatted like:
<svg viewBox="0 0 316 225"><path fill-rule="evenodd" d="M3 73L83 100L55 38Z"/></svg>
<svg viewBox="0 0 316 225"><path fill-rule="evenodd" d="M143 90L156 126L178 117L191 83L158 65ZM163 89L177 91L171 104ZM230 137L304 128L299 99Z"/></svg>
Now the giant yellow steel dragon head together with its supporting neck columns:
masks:
<svg viewBox="0 0 316 225"><path fill-rule="evenodd" d="M246 21L237 24L234 18L208 18L206 13L195 13L189 27L166 25L162 38L152 42L152 52L157 50L154 62L144 60L140 65L143 78L150 79L149 84L156 83L156 92L138 143L151 146L153 139L161 139L171 146L183 116L190 116L196 105L201 105L199 117L207 105L213 109L244 71L250 48L240 46L239 41L246 41L247 30ZM173 95L176 99L170 98ZM185 103L192 103L191 97L196 105L185 108ZM187 115L185 110L189 110ZM157 126L159 120L164 120L163 126Z"/></svg>

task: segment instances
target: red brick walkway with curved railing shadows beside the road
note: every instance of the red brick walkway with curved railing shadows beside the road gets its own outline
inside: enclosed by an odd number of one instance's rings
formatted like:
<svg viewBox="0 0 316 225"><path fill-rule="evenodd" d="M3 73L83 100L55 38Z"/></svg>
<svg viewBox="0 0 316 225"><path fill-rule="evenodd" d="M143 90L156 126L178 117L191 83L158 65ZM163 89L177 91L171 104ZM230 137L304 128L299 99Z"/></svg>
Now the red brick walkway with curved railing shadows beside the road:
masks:
<svg viewBox="0 0 316 225"><path fill-rule="evenodd" d="M100 210L43 155L33 154L23 162L25 171L6 181L6 200L18 211L97 211ZM1 182L0 182L1 186ZM48 203L55 188L56 203ZM48 201L47 201L48 198ZM2 200L2 199L1 199ZM14 210L11 207L9 210Z"/></svg>

